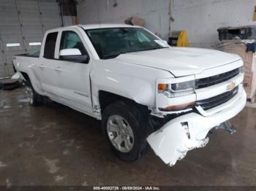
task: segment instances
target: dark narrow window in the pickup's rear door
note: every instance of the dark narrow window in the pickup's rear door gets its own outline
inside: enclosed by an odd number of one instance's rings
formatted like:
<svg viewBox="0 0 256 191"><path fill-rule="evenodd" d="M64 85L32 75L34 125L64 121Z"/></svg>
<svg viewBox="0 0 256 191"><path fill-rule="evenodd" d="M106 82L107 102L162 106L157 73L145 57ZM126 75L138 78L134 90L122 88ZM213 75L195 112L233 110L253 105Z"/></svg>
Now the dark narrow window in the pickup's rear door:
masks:
<svg viewBox="0 0 256 191"><path fill-rule="evenodd" d="M58 32L49 33L45 40L44 58L54 59L54 51Z"/></svg>

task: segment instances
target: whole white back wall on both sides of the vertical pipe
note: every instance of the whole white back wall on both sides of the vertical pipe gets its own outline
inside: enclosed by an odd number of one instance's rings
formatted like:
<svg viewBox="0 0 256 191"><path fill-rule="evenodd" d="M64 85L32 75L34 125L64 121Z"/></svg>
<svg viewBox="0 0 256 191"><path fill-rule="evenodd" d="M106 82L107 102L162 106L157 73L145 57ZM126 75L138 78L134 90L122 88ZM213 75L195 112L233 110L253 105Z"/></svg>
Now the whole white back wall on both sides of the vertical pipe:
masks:
<svg viewBox="0 0 256 191"><path fill-rule="evenodd" d="M143 17L146 28L167 39L169 3L172 1L171 31L186 30L191 46L211 47L220 26L244 26L252 21L256 0L80 0L79 23L123 23L130 16Z"/></svg>

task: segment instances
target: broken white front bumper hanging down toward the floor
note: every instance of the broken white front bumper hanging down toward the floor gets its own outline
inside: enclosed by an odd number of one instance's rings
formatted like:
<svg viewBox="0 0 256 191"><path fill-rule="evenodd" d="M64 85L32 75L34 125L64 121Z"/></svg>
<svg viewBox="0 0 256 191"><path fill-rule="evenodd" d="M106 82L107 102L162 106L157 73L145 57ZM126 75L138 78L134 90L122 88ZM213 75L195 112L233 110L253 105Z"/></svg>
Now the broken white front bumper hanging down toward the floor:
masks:
<svg viewBox="0 0 256 191"><path fill-rule="evenodd" d="M209 130L220 128L222 122L230 120L244 109L246 93L244 88L239 89L238 97L224 104L222 111L209 116L192 112L176 117L151 133L147 138L148 144L166 164L175 165L189 150L206 146Z"/></svg>

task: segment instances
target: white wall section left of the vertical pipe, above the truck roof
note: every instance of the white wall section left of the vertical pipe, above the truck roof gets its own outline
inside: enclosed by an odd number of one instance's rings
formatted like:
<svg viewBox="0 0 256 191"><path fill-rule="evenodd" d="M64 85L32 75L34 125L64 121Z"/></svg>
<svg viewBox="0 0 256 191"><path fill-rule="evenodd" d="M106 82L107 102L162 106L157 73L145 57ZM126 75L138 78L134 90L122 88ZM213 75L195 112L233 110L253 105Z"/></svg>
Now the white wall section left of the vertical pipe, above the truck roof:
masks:
<svg viewBox="0 0 256 191"><path fill-rule="evenodd" d="M78 23L124 23L127 17L141 17L146 21L146 28L167 39L169 28L170 0L86 0L78 4Z"/></svg>

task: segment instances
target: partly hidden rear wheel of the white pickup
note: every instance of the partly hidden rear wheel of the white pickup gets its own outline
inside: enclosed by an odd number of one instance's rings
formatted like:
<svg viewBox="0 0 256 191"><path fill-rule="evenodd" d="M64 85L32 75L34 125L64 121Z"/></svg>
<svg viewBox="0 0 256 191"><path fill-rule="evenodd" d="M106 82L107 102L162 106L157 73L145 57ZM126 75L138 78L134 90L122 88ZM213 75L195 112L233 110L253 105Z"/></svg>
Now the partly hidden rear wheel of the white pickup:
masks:
<svg viewBox="0 0 256 191"><path fill-rule="evenodd" d="M26 80L26 96L29 99L29 105L39 106L42 104L42 95L39 95L39 93L34 90L29 80Z"/></svg>

